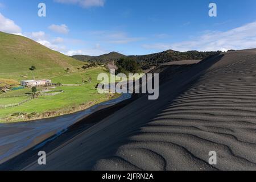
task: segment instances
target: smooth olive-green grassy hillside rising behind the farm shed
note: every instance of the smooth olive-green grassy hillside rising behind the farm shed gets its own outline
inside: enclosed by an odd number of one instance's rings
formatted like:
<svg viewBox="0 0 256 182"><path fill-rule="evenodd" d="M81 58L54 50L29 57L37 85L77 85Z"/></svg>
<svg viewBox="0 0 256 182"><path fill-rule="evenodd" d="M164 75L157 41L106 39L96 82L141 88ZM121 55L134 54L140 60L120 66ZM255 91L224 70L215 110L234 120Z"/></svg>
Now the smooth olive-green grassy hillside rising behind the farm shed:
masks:
<svg viewBox="0 0 256 182"><path fill-rule="evenodd" d="M81 65L80 61L52 51L31 39L4 32L0 32L0 55L0 73L12 73L14 76L17 72L29 72L31 65L36 67L36 71L52 68L76 71L77 66Z"/></svg>

